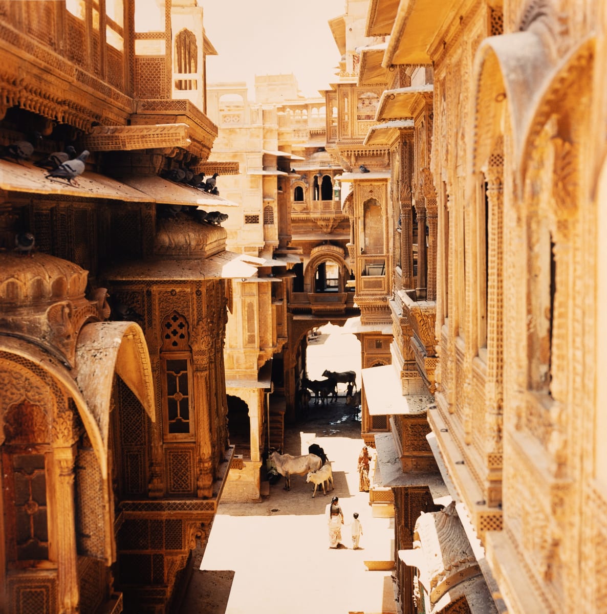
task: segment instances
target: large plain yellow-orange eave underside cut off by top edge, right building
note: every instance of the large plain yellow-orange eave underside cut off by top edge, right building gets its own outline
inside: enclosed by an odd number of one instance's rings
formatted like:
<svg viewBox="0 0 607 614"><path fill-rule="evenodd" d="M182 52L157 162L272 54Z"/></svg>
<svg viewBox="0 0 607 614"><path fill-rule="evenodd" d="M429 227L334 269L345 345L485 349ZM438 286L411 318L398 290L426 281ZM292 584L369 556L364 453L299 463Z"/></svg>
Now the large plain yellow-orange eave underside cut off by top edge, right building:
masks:
<svg viewBox="0 0 607 614"><path fill-rule="evenodd" d="M431 64L428 49L455 4L453 0L402 0L390 33L383 66Z"/></svg>

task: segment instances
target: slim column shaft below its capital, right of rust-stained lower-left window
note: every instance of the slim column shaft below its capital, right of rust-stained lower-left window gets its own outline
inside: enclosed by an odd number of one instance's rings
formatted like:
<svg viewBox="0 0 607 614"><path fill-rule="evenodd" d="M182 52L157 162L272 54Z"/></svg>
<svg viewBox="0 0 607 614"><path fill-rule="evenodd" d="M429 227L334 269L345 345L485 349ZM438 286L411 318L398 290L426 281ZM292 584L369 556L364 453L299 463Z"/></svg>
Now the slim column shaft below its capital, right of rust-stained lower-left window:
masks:
<svg viewBox="0 0 607 614"><path fill-rule="evenodd" d="M76 518L74 515L73 446L53 446L55 481L55 518L57 518L58 612L79 612L78 570L76 553Z"/></svg>

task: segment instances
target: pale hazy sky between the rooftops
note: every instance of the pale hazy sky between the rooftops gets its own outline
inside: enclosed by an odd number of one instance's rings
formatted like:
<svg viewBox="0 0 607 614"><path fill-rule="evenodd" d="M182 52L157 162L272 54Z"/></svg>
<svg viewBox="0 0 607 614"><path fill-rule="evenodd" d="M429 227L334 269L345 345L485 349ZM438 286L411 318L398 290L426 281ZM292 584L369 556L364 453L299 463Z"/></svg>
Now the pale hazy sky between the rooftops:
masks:
<svg viewBox="0 0 607 614"><path fill-rule="evenodd" d="M198 0L206 36L219 55L206 58L207 83L255 75L296 76L304 96L335 82L339 50L327 21L343 15L345 0Z"/></svg>

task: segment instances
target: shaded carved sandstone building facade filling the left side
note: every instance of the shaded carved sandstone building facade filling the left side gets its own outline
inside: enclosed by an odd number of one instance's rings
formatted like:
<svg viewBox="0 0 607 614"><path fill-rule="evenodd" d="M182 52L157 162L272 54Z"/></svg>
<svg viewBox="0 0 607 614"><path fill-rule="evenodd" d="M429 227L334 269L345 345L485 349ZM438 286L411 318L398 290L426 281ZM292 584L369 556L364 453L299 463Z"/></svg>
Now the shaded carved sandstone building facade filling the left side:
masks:
<svg viewBox="0 0 607 614"><path fill-rule="evenodd" d="M157 176L206 163L213 47L196 2L143 2L146 32L135 4L0 2L7 614L178 607L233 454L222 270L256 268L186 212L200 190ZM48 177L68 145L84 173Z"/></svg>

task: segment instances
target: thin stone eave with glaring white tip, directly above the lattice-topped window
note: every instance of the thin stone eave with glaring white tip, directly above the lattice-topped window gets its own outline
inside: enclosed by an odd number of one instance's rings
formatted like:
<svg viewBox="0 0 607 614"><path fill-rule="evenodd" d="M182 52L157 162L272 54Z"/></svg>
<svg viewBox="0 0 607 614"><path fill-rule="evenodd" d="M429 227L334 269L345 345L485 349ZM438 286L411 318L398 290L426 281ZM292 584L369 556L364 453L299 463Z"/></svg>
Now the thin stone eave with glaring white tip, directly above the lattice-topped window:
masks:
<svg viewBox="0 0 607 614"><path fill-rule="evenodd" d="M139 260L103 271L112 281L137 279L238 279L257 274L257 266L246 262L243 254L222 251L208 258Z"/></svg>

